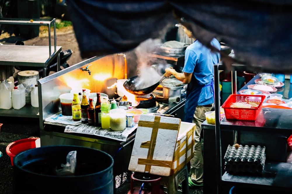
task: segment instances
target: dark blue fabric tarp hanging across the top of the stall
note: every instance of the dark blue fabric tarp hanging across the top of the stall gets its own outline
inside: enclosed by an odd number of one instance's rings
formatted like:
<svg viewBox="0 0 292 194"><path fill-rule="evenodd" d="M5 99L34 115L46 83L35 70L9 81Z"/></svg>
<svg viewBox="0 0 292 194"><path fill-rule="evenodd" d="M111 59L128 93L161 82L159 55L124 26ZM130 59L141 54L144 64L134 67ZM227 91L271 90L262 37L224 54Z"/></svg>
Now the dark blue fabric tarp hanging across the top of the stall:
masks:
<svg viewBox="0 0 292 194"><path fill-rule="evenodd" d="M292 69L292 1L66 3L82 57L129 51L148 38L165 35L174 19L184 17L200 42L207 43L213 37L224 40L237 59L251 68L274 72Z"/></svg>

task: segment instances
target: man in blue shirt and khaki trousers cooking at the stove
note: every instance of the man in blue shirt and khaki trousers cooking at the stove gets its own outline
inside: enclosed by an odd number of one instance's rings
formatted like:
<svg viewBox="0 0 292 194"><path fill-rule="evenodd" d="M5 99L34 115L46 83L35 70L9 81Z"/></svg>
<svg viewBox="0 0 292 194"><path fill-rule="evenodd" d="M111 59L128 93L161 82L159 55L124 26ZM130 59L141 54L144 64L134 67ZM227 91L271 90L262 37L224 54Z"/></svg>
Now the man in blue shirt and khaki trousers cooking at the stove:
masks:
<svg viewBox="0 0 292 194"><path fill-rule="evenodd" d="M185 24L186 25L186 24ZM214 64L219 63L220 53L212 52L193 36L189 26L183 29L195 41L185 50L185 64L182 73L166 68L165 76L175 76L187 85L185 101L185 122L196 123L194 157L190 160L190 188L203 188L203 156L200 144L201 123L206 120L205 113L214 105ZM188 28L189 27L189 28ZM213 38L210 44L220 51L220 43Z"/></svg>

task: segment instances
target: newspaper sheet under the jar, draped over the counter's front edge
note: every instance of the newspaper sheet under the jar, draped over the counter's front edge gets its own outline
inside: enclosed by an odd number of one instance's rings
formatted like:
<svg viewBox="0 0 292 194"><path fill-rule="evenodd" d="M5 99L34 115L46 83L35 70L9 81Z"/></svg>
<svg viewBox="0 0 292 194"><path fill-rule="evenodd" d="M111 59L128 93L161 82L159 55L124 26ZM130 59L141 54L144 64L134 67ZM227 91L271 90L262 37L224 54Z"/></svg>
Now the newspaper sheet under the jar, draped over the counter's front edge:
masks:
<svg viewBox="0 0 292 194"><path fill-rule="evenodd" d="M135 131L137 127L138 123L135 123L133 127L126 127L123 131L113 131L112 129L102 129L101 127L90 126L88 124L80 124L78 126L67 125L64 132L96 135L114 140L126 141L128 136Z"/></svg>

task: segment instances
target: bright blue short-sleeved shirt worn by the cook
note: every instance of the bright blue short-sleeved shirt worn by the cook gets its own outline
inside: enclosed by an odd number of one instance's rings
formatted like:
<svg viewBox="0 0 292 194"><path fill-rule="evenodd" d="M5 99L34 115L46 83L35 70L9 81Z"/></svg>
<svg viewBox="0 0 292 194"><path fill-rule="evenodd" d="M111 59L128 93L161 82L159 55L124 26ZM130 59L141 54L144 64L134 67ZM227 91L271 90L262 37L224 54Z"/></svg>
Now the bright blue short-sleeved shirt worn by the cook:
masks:
<svg viewBox="0 0 292 194"><path fill-rule="evenodd" d="M220 43L213 38L211 45L220 50ZM197 105L207 105L214 103L213 80L214 64L219 63L220 53L212 52L202 45L198 40L194 41L185 51L185 65L183 72L192 73L191 82L187 88L187 101ZM199 97L191 97L188 95Z"/></svg>

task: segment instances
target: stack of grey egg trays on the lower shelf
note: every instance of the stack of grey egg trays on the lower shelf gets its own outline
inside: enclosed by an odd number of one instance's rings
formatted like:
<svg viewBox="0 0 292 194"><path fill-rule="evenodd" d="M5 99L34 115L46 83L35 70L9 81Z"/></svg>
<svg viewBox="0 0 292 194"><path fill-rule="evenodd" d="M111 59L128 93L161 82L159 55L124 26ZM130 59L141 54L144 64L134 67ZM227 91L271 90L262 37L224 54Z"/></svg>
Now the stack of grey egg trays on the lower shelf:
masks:
<svg viewBox="0 0 292 194"><path fill-rule="evenodd" d="M266 147L249 147L239 145L238 148L228 145L224 160L225 171L232 172L251 172L261 173L265 167Z"/></svg>

